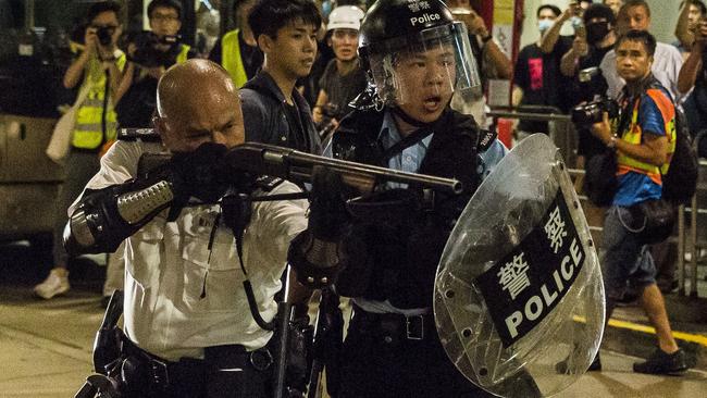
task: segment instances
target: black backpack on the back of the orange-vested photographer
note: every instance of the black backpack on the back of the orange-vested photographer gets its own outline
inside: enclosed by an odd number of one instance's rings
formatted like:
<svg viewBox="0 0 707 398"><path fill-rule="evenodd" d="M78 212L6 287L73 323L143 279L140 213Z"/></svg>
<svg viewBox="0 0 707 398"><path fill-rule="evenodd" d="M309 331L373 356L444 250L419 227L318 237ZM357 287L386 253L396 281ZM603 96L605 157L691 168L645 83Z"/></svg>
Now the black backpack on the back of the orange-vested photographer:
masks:
<svg viewBox="0 0 707 398"><path fill-rule="evenodd" d="M675 107L675 151L668 173L662 176L662 198L673 204L687 204L697 189L697 152L692 146L685 114Z"/></svg>

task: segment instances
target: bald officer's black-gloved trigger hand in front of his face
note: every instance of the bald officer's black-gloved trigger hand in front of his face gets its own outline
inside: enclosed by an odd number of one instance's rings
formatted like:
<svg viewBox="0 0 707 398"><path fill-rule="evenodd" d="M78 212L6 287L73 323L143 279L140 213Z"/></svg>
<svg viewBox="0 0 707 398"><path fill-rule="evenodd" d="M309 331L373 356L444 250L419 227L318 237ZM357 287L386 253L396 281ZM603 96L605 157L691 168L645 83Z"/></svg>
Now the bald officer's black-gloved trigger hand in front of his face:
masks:
<svg viewBox="0 0 707 398"><path fill-rule="evenodd" d="M190 197L215 203L226 192L231 185L223 165L227 150L224 145L204 142L193 152L172 157L168 167L175 198L170 219L178 214Z"/></svg>

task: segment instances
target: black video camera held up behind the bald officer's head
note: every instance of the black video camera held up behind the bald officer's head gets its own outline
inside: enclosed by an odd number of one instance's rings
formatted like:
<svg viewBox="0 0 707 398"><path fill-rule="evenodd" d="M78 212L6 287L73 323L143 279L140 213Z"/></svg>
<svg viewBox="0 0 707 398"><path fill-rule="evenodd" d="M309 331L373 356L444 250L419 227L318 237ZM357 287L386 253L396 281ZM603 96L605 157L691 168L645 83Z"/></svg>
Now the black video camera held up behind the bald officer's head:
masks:
<svg viewBox="0 0 707 398"><path fill-rule="evenodd" d="M170 66L176 62L179 41L178 35L160 37L149 30L138 32L127 39L136 47L128 60L145 67Z"/></svg>

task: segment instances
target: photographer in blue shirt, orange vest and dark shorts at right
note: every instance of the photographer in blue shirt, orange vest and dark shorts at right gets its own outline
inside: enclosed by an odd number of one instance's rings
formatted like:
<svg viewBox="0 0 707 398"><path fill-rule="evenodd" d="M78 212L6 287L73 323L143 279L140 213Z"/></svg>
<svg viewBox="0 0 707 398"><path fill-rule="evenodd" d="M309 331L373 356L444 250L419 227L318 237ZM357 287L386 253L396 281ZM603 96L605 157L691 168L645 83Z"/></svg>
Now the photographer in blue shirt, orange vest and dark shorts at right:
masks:
<svg viewBox="0 0 707 398"><path fill-rule="evenodd" d="M618 189L604 223L604 285L606 319L623 295L628 283L641 291L641 306L656 328L658 349L634 372L674 374L687 369L685 353L672 337L662 295L656 285L656 268L643 235L648 214L642 204L659 200L662 174L667 173L675 141L675 109L668 90L650 67L656 39L645 30L629 30L616 45L616 69L627 83L618 127L611 128L608 113L592 133L617 152ZM643 227L642 227L643 225ZM597 356L594 369L600 369Z"/></svg>

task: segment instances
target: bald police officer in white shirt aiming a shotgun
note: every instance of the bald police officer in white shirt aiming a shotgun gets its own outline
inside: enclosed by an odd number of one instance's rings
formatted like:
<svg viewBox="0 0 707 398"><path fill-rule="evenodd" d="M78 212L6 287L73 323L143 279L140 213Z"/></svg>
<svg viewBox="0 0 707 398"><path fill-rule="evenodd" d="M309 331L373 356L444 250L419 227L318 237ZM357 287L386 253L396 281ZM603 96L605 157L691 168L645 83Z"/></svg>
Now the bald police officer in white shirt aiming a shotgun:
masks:
<svg viewBox="0 0 707 398"><path fill-rule="evenodd" d="M154 126L170 162L141 172L140 157L160 144L119 141L70 209L71 252L112 251L126 239L123 348L97 371L129 397L269 397L272 332L256 322L243 282L270 322L289 242L308 225L307 202L213 204L227 194L300 192L224 167L244 126L236 88L216 64L190 60L168 70ZM251 214L246 222L239 210ZM310 219L326 225L321 207Z"/></svg>

